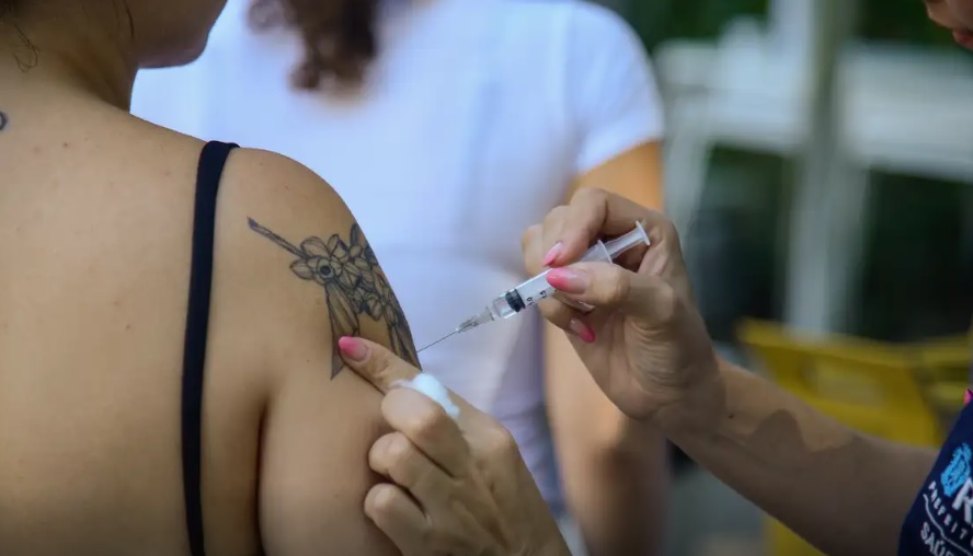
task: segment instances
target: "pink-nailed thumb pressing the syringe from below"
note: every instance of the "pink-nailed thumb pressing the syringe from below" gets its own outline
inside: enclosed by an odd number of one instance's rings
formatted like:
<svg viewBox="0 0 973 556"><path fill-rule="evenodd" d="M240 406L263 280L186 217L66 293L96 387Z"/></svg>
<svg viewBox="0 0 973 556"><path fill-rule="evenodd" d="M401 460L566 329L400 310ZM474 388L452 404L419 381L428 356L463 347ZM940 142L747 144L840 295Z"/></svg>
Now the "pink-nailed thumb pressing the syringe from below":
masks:
<svg viewBox="0 0 973 556"><path fill-rule="evenodd" d="M570 299L595 308L616 309L651 325L669 322L679 305L678 293L662 278L611 263L577 263L552 268L547 280Z"/></svg>

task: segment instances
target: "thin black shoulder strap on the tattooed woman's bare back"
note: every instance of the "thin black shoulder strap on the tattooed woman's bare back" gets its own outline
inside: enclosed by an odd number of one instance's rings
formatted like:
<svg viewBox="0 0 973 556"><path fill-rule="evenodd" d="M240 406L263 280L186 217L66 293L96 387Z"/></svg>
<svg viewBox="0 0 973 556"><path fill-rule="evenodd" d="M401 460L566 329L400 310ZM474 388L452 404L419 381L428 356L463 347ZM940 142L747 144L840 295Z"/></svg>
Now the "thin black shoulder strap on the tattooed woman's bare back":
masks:
<svg viewBox="0 0 973 556"><path fill-rule="evenodd" d="M193 258L182 377L182 460L186 528L193 556L205 556L203 536L203 378L206 336L209 328L209 294L213 286L213 242L216 197L230 151L236 144L211 141L199 155L196 204L193 217Z"/></svg>

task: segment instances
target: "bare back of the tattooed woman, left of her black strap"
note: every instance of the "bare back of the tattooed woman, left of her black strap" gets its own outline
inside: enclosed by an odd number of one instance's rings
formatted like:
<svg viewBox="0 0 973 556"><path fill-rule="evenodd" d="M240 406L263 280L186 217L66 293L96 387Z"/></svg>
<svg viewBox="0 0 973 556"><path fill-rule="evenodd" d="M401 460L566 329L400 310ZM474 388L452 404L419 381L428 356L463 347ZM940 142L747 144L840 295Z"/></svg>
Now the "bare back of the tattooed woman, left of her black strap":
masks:
<svg viewBox="0 0 973 556"><path fill-rule="evenodd" d="M196 149L75 107L3 106L0 552L174 553Z"/></svg>

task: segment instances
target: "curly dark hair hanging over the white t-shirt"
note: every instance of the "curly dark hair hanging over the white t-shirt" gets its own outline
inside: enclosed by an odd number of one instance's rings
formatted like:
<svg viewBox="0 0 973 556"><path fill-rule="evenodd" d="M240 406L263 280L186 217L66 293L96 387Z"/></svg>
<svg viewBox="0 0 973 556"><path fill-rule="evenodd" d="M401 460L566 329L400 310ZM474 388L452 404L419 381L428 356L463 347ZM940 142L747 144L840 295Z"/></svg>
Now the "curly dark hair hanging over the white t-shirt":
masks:
<svg viewBox="0 0 973 556"><path fill-rule="evenodd" d="M251 0L249 19L257 31L286 26L300 33L305 51L294 70L295 86L357 86L378 54L379 1Z"/></svg>

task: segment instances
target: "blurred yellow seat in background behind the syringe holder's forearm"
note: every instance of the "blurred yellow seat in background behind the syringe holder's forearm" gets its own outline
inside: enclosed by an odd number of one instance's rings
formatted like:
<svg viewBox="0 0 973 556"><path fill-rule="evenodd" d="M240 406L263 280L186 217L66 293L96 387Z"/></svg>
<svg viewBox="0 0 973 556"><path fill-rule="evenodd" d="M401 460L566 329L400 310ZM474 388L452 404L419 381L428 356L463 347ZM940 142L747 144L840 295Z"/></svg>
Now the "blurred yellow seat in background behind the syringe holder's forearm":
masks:
<svg viewBox="0 0 973 556"><path fill-rule="evenodd" d="M883 344L847 336L808 338L744 321L741 341L759 370L822 413L897 442L938 447L962 408L970 337ZM768 556L822 553L768 518Z"/></svg>

